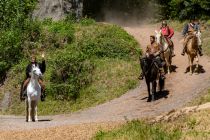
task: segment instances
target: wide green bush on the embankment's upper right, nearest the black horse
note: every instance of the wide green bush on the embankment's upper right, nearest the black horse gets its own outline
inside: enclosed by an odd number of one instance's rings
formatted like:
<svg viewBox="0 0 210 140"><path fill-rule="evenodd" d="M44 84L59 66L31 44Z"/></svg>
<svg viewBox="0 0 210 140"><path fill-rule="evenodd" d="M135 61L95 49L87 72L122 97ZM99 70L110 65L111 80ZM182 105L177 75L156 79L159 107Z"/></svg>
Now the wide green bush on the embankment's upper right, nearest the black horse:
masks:
<svg viewBox="0 0 210 140"><path fill-rule="evenodd" d="M141 53L137 49L137 42L116 25L90 27L92 30L82 31L83 37L78 37L78 47L88 56L98 58L129 58ZM85 28L86 30L86 28ZM92 35L94 34L94 37Z"/></svg>

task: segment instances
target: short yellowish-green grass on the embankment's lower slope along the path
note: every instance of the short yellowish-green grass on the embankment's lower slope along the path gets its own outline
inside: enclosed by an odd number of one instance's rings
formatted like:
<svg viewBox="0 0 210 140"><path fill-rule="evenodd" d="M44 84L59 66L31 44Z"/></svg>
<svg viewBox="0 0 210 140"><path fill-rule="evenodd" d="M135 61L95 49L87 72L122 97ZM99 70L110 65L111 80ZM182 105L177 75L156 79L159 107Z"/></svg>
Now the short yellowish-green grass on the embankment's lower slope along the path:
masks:
<svg viewBox="0 0 210 140"><path fill-rule="evenodd" d="M39 104L39 114L63 114L96 106L117 98L138 85L138 61L104 58L96 60L95 65L92 84L82 89L76 101L54 100L47 97L45 102ZM18 96L14 95L13 104L6 114L24 115L25 104L20 103Z"/></svg>

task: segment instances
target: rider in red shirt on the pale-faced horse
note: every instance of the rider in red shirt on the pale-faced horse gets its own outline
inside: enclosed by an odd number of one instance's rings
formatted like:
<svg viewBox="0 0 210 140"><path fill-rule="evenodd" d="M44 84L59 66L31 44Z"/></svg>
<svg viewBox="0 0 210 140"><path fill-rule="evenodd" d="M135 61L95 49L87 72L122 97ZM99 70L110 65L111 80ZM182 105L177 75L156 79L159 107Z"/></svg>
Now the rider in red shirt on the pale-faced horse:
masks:
<svg viewBox="0 0 210 140"><path fill-rule="evenodd" d="M170 49L172 51L172 57L174 57L175 56L174 44L173 44L173 42L171 40L171 38L174 35L174 30L167 25L166 21L162 22L162 27L160 29L161 29L161 32L162 32L163 36L166 38L166 41L169 44L169 47L170 47Z"/></svg>

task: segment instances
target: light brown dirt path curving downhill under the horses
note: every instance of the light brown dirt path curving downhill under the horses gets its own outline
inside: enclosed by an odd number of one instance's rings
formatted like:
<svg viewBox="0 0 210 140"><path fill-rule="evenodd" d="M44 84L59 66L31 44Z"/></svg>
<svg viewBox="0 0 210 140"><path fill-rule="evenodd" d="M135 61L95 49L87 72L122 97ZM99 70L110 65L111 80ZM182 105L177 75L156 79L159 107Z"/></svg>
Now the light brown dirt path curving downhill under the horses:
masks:
<svg viewBox="0 0 210 140"><path fill-rule="evenodd" d="M125 30L141 43L143 49L148 44L149 36L154 33L155 29L158 29L158 26L125 27ZM1 130L14 130L16 132L16 130L41 129L40 131L43 131L43 128L48 130L49 127L60 127L63 125L112 123L124 121L125 119L152 117L171 109L182 107L193 98L199 96L200 92L210 87L210 61L208 57L203 56L200 59L200 64L204 66L205 72L192 76L188 73L185 74L188 61L187 56L183 57L180 55L182 47L180 40L180 34L176 33L173 38L177 55L173 60L173 65L177 66L176 72L167 75L167 91L159 95L159 99L155 102L146 102L146 85L145 82L142 82L138 88L129 91L118 99L73 114L41 117L40 119L43 119L43 121L39 123L25 123L24 117L0 116L0 136L9 136L8 132L1 133ZM84 128L84 126L81 128ZM69 131L72 132L74 130L72 128ZM82 129L82 131L88 132L90 128L87 127L87 129Z"/></svg>

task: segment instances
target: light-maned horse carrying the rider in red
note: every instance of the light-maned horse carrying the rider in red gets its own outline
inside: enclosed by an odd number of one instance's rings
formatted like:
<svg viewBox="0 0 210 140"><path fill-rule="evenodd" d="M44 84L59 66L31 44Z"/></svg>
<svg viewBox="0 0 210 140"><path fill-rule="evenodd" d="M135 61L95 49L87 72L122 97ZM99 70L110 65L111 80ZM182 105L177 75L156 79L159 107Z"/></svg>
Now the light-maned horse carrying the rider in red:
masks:
<svg viewBox="0 0 210 140"><path fill-rule="evenodd" d="M158 45L162 47L163 51L163 59L166 62L167 72L168 74L171 73L171 63L172 63L172 54L170 50L170 46L166 40L166 38L162 35L161 31L155 31L156 33L156 41Z"/></svg>

